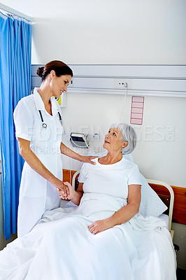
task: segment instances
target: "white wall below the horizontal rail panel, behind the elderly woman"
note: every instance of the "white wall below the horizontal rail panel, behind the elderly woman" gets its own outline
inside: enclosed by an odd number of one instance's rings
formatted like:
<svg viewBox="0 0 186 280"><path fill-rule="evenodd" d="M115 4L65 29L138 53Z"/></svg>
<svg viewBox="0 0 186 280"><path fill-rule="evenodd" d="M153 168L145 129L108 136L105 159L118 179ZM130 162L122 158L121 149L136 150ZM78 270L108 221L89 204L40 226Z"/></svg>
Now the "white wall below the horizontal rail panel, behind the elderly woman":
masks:
<svg viewBox="0 0 186 280"><path fill-rule="evenodd" d="M103 134L120 120L123 109L121 120L130 121L130 96L124 100L120 95L67 93L66 97L66 108L62 109L66 132L100 133L100 144L91 145L99 146L100 151ZM186 187L185 108L184 98L145 97L143 125L134 125L138 143L133 156L147 178ZM72 168L77 169L79 165L73 162ZM69 160L64 160L64 168L70 167Z"/></svg>

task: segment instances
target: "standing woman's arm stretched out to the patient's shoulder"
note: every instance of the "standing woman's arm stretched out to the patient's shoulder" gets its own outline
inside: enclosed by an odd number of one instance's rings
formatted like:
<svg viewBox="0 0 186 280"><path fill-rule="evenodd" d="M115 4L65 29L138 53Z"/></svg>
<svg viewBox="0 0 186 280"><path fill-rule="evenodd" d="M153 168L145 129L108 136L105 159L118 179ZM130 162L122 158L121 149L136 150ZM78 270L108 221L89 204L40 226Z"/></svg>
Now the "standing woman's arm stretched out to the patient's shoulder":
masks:
<svg viewBox="0 0 186 280"><path fill-rule="evenodd" d="M92 162L92 160L93 158L97 157L79 155L78 153L72 151L70 148L66 147L63 143L61 143L60 150L63 155L67 155L68 157L73 158L74 160L79 160L80 162L88 162L92 165L96 164L95 162Z"/></svg>

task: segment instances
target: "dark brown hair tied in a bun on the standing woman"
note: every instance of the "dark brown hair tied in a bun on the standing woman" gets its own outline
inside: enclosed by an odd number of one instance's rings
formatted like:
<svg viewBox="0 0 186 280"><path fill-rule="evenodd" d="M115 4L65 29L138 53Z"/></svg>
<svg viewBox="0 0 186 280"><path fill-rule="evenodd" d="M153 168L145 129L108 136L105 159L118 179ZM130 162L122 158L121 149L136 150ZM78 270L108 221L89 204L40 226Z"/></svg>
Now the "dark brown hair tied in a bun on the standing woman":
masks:
<svg viewBox="0 0 186 280"><path fill-rule="evenodd" d="M60 60L52 60L45 66L38 67L36 73L41 77L41 80L43 82L43 80L45 80L46 76L48 76L48 74L50 74L50 71L52 70L55 71L57 77L62 75L70 75L71 77L73 77L73 71L71 70L71 68Z"/></svg>

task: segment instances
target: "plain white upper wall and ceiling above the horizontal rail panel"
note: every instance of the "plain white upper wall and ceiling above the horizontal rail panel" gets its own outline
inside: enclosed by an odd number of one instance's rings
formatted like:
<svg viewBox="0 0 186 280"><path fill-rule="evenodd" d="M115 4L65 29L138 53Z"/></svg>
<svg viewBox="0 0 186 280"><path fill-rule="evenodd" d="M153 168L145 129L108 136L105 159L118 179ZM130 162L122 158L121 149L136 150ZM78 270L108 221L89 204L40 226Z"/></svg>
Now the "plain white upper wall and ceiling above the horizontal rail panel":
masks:
<svg viewBox="0 0 186 280"><path fill-rule="evenodd" d="M32 63L185 64L185 0L1 0L34 17Z"/></svg>

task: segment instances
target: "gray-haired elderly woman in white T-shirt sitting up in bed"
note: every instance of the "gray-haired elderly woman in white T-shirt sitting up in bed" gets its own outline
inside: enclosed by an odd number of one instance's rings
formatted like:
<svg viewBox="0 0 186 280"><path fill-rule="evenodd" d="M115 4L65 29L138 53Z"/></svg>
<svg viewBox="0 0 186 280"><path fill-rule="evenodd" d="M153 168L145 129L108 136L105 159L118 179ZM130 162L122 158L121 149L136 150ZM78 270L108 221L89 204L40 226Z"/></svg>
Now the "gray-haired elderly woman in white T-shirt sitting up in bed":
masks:
<svg viewBox="0 0 186 280"><path fill-rule="evenodd" d="M96 165L83 165L77 191L68 182L65 183L69 188L68 198L76 205L80 204L84 193L92 193L98 199L99 194L106 194L123 204L112 216L89 225L90 232L94 234L126 223L138 213L141 202L140 173L134 162L122 157L122 153L131 153L135 146L136 132L131 126L125 123L111 125L103 144L107 155L94 159ZM60 190L59 196L66 198Z"/></svg>

